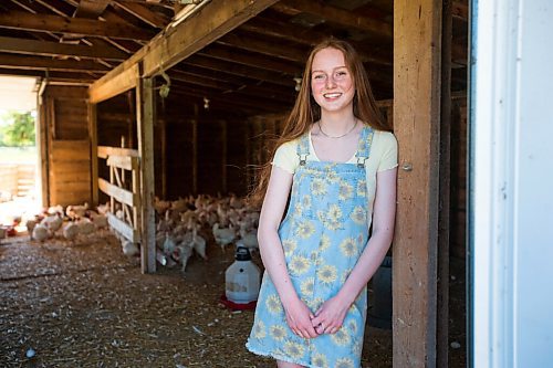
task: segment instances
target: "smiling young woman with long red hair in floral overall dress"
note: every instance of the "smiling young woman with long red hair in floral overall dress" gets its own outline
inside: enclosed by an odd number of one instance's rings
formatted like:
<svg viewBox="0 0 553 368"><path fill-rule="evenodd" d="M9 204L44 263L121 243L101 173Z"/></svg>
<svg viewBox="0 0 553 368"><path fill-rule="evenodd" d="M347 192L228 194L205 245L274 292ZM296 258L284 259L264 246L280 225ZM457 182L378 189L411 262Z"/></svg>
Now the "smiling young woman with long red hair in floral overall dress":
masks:
<svg viewBox="0 0 553 368"><path fill-rule="evenodd" d="M278 367L359 367L366 284L394 233L388 130L355 50L316 45L257 192L265 273L247 347Z"/></svg>

